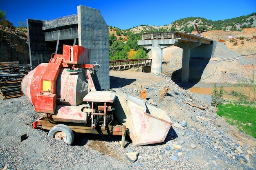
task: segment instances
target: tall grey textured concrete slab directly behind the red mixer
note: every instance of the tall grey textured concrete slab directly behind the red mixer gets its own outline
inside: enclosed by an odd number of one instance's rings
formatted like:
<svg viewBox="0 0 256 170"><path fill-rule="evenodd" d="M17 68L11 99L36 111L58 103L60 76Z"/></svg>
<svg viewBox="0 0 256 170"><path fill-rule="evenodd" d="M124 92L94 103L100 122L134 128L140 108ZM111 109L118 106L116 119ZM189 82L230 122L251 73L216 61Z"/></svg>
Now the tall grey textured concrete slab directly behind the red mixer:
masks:
<svg viewBox="0 0 256 170"><path fill-rule="evenodd" d="M110 88L108 25L98 9L78 6L79 45L91 49L90 62L100 64L97 70L101 88Z"/></svg>

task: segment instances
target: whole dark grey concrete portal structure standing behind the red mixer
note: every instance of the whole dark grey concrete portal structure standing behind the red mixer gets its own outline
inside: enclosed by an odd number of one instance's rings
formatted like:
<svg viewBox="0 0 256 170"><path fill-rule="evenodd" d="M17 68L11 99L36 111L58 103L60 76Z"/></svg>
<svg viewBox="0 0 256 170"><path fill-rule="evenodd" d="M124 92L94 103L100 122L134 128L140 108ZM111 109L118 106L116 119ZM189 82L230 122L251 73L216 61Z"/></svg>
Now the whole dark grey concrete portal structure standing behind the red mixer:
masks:
<svg viewBox="0 0 256 170"><path fill-rule="evenodd" d="M108 25L98 9L78 6L77 11L50 21L27 20L31 64L49 62L55 52L62 54L63 44L78 44L91 49L90 64L100 64L93 75L99 86L110 88Z"/></svg>

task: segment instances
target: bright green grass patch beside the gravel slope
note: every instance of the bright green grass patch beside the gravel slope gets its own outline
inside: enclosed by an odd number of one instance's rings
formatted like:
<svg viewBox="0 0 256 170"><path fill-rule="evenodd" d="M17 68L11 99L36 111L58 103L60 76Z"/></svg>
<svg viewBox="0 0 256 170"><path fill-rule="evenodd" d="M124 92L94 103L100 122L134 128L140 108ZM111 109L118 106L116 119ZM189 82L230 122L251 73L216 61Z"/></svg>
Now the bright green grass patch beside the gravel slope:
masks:
<svg viewBox="0 0 256 170"><path fill-rule="evenodd" d="M256 107L237 104L218 105L217 114L225 116L229 124L256 138Z"/></svg>

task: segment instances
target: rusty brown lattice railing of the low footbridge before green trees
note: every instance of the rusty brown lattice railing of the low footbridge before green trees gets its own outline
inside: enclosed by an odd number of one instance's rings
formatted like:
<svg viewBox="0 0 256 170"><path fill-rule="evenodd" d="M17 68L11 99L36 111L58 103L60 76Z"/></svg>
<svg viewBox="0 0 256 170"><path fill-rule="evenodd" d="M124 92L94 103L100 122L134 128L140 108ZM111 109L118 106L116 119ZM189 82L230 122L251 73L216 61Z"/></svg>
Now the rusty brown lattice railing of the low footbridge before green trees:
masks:
<svg viewBox="0 0 256 170"><path fill-rule="evenodd" d="M139 66L151 66L152 59L114 60L109 62L110 70L125 70Z"/></svg>

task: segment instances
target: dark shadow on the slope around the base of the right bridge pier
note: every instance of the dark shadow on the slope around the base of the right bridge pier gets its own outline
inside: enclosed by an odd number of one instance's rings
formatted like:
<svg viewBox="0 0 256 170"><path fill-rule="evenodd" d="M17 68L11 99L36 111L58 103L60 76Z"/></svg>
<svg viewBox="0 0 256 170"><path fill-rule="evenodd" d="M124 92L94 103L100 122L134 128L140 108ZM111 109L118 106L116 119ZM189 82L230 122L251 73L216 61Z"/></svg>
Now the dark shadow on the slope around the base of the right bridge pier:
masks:
<svg viewBox="0 0 256 170"><path fill-rule="evenodd" d="M200 79L202 77L203 71L207 64L209 63L209 59L207 60L200 60L200 59L190 59L189 61L189 82L188 83L182 83L181 82L181 68L179 70L176 70L171 75L171 79L175 84L178 86L189 89L193 87L195 84L200 82Z"/></svg>

